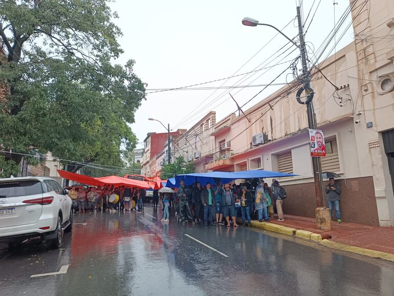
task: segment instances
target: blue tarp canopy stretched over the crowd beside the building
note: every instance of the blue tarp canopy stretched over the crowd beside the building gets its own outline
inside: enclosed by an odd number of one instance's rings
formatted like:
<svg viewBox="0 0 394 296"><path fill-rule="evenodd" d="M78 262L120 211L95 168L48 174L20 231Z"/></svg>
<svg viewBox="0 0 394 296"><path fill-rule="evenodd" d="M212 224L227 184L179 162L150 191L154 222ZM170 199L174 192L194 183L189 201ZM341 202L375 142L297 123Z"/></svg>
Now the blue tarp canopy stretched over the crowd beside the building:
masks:
<svg viewBox="0 0 394 296"><path fill-rule="evenodd" d="M185 185L191 185L194 182L200 182L205 186L206 183L215 184L218 180L222 184L230 183L236 179L255 179L255 178L280 178L280 177L293 177L298 176L295 174L284 174L271 171L242 171L242 172L209 172L209 173L192 173L186 175L177 175L174 178L167 180L167 187L179 187L181 180L185 180Z"/></svg>

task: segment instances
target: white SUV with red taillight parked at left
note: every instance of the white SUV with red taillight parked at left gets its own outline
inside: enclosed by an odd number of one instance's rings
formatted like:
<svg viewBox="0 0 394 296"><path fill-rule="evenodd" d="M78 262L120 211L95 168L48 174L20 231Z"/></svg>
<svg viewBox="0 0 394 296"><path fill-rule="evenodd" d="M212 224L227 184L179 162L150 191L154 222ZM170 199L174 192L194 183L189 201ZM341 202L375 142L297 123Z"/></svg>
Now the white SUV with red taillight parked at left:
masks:
<svg viewBox="0 0 394 296"><path fill-rule="evenodd" d="M58 248L73 227L72 201L60 184L46 177L0 179L0 242L10 248L41 237Z"/></svg>

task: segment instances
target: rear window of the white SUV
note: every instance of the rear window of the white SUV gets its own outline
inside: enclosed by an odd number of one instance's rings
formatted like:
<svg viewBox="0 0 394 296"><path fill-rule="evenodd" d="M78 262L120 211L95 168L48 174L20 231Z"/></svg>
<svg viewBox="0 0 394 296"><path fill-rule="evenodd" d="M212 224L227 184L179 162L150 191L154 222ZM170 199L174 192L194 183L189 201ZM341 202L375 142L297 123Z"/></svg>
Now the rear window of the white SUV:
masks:
<svg viewBox="0 0 394 296"><path fill-rule="evenodd" d="M0 183L0 198L42 194L41 182L37 180Z"/></svg>

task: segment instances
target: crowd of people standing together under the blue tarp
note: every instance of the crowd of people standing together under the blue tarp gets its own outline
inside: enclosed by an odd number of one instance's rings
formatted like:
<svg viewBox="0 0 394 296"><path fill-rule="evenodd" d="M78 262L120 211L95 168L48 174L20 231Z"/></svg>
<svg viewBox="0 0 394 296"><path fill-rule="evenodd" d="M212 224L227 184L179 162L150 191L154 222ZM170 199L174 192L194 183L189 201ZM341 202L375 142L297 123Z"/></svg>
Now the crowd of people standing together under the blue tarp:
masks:
<svg viewBox="0 0 394 296"><path fill-rule="evenodd" d="M158 191L154 191L154 207L159 201ZM186 224L227 225L238 227L237 216L242 218L242 224L250 226L251 217L256 216L259 222L273 219L274 213L278 220L283 221L282 203L286 199L286 191L274 180L271 187L261 179L255 188L248 183L236 185L226 183L200 182L185 186L181 180L180 187L174 194L162 195L163 222L169 222L169 209L173 206L176 217ZM240 215L239 215L240 214Z"/></svg>

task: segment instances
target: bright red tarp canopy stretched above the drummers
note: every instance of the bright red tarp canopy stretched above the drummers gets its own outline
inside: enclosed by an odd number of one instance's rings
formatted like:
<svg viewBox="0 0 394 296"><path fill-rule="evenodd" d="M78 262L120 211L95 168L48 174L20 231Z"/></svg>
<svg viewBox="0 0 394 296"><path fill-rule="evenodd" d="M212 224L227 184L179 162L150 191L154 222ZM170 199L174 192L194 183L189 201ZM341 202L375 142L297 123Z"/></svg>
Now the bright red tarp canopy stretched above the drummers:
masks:
<svg viewBox="0 0 394 296"><path fill-rule="evenodd" d="M137 187L143 189L149 189L150 186L146 181L139 181L133 179L126 179L118 176L107 176L107 177L100 177L100 178L92 178L86 175L75 174L67 171L57 170L60 177L68 180L73 180L82 184L86 185L93 185L93 186L103 186L105 184L114 185L114 186L130 186L130 187Z"/></svg>

